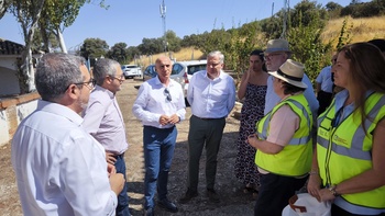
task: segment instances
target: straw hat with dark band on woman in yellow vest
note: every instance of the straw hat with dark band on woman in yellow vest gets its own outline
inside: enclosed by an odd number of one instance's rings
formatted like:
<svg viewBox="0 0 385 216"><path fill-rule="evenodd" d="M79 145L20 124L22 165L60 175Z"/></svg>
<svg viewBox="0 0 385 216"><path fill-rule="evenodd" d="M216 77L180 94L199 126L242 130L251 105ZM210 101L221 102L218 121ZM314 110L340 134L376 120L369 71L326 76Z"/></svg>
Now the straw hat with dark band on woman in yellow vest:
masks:
<svg viewBox="0 0 385 216"><path fill-rule="evenodd" d="M306 89L308 86L302 82L304 69L302 64L287 59L277 71L268 73L293 86Z"/></svg>

